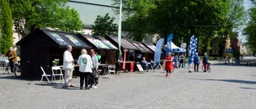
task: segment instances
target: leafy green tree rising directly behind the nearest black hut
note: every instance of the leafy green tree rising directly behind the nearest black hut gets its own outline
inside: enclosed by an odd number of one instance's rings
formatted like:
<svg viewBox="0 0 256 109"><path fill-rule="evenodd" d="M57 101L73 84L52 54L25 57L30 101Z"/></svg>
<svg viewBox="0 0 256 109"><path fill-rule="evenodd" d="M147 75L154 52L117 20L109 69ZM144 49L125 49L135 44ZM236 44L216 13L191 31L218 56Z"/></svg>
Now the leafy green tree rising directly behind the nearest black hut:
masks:
<svg viewBox="0 0 256 109"><path fill-rule="evenodd" d="M24 28L32 31L51 27L70 32L82 29L78 13L66 3L67 0L10 0L15 31L24 36Z"/></svg>

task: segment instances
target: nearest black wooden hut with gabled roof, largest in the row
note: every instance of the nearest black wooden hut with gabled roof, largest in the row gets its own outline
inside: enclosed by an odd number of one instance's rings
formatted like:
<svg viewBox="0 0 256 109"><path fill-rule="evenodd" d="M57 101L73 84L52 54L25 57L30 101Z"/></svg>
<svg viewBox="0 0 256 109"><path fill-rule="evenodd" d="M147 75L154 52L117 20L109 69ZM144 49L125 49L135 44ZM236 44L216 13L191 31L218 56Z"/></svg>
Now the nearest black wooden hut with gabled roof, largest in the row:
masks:
<svg viewBox="0 0 256 109"><path fill-rule="evenodd" d="M83 42L74 33L66 33L49 29L34 29L16 45L21 48L22 78L38 79L42 75L40 67L51 74L52 61L59 59L63 64L63 53L67 45L73 47L72 55L78 59L81 49L91 47Z"/></svg>

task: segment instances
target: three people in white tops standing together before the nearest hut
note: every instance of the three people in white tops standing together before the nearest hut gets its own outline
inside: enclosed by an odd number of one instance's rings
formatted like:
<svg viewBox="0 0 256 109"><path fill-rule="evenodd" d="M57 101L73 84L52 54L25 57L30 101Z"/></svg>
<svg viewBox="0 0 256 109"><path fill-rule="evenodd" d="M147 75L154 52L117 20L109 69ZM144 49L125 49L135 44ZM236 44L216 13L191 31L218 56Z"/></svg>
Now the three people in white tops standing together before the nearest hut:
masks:
<svg viewBox="0 0 256 109"><path fill-rule="evenodd" d="M72 46L68 45L63 55L63 68L65 69L65 88L74 87L71 84L74 68L74 58L71 54ZM81 55L77 61L80 72L80 89L83 89L85 83L85 89L97 88L98 84L98 56L95 54L94 49L90 49L90 55L86 49L81 50ZM92 78L92 79L90 79ZM91 81L89 81L91 80ZM89 86L90 82L90 86Z"/></svg>

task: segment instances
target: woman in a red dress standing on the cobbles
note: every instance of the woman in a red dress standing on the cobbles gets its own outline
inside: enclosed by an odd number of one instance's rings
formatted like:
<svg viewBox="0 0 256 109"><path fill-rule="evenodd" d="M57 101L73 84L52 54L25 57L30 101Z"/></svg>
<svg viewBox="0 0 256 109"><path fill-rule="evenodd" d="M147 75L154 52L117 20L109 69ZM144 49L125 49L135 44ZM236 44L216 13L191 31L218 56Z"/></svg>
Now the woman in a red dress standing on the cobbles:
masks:
<svg viewBox="0 0 256 109"><path fill-rule="evenodd" d="M173 65L173 57L171 56L171 53L168 53L168 56L166 56L166 77L170 77L170 73L172 70L174 70Z"/></svg>

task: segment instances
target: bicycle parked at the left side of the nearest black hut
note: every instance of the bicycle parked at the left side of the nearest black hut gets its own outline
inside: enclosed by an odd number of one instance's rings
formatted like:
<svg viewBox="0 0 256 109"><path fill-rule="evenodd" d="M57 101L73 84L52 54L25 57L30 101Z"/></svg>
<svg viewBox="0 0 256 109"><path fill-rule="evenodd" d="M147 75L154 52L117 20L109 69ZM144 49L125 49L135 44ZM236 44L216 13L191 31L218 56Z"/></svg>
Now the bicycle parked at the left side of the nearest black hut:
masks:
<svg viewBox="0 0 256 109"><path fill-rule="evenodd" d="M14 75L17 78L21 77L21 65L20 65L20 61L18 61L18 63L14 63ZM12 72L10 72L10 64L8 63L8 65L5 68L5 71L8 72L8 74L11 74Z"/></svg>

